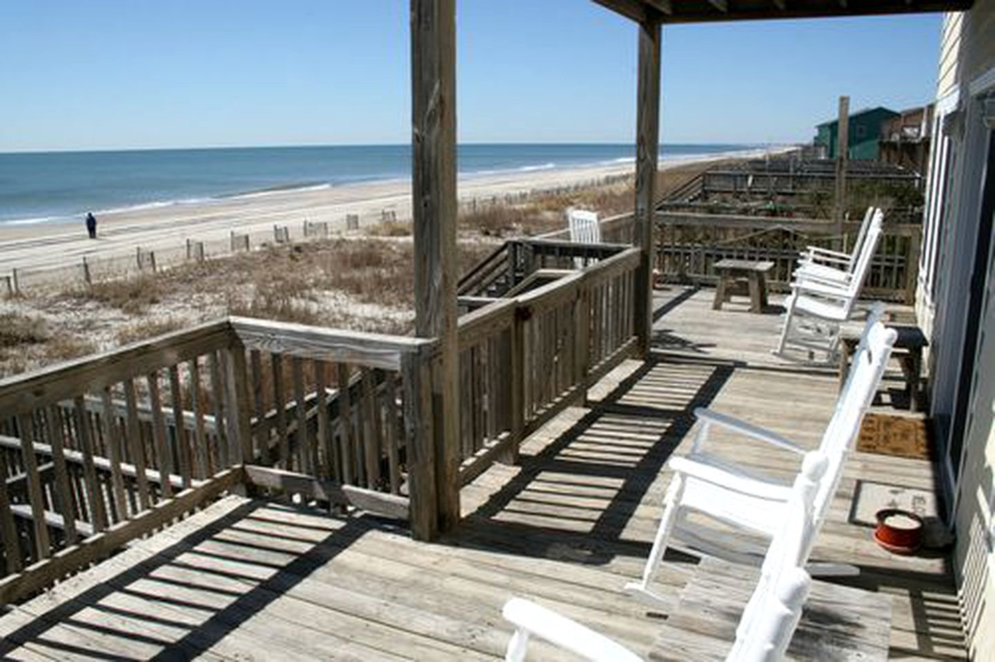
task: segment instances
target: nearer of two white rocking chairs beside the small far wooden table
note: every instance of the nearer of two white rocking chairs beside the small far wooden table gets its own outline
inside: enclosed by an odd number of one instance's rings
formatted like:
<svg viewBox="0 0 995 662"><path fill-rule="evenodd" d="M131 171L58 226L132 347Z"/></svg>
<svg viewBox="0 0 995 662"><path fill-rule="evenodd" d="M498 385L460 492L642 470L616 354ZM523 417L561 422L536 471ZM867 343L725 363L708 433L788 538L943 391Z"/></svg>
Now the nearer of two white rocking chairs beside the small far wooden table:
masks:
<svg viewBox="0 0 995 662"><path fill-rule="evenodd" d="M854 263L853 271L843 279L832 281L815 278L811 272L802 271L791 283L791 294L785 301L784 326L774 353L792 358L788 349L805 352L811 361L830 363L836 360L840 344L840 327L850 319L861 287L871 268L871 259L878 249L882 235L881 212L876 212L871 220L861 253Z"/></svg>

